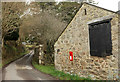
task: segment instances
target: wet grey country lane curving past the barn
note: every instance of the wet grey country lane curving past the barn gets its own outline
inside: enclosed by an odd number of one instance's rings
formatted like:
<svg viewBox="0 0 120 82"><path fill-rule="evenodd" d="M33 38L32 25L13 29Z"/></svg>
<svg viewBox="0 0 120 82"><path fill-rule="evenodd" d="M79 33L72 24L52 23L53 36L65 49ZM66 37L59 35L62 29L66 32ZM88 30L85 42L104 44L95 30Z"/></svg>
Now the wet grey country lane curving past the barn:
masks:
<svg viewBox="0 0 120 82"><path fill-rule="evenodd" d="M9 64L3 70L3 80L56 80L56 78L41 73L31 65L32 53L25 55Z"/></svg>

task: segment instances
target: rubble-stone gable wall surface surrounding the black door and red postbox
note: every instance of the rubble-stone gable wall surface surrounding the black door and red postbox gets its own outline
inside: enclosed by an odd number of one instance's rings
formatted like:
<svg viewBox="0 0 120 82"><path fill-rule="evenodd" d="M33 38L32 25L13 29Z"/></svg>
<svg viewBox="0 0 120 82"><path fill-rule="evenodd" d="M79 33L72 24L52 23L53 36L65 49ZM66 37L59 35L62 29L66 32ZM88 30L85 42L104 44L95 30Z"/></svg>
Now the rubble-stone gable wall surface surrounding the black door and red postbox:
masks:
<svg viewBox="0 0 120 82"><path fill-rule="evenodd" d="M112 16L113 55L91 56L88 23L107 16ZM118 79L118 15L116 13L84 3L54 47L57 70L77 74L80 77L91 77L93 80ZM69 51L73 51L73 61L69 60Z"/></svg>

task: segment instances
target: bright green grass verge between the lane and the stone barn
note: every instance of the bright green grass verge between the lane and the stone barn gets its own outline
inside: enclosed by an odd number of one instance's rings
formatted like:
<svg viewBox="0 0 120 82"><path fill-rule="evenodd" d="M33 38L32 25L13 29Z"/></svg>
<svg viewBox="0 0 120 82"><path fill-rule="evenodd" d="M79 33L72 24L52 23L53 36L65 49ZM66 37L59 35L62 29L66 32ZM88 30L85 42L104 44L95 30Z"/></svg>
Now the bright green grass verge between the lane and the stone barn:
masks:
<svg viewBox="0 0 120 82"><path fill-rule="evenodd" d="M32 62L32 65L38 69L39 71L52 75L59 80L90 80L90 78L84 78L84 77L79 77L77 75L70 75L66 74L62 71L57 71L55 70L54 66L44 66L44 65L38 65L36 62Z"/></svg>

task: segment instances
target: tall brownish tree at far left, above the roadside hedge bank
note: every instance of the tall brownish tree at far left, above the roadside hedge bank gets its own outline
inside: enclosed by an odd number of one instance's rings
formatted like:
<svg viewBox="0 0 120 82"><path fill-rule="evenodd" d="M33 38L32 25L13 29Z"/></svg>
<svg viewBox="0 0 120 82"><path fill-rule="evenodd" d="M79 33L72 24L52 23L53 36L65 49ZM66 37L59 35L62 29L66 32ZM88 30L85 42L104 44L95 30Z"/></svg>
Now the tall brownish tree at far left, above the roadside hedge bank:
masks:
<svg viewBox="0 0 120 82"><path fill-rule="evenodd" d="M20 19L22 3L2 3L2 38L6 40L18 40L19 27L22 23ZM22 10L22 9L21 9Z"/></svg>

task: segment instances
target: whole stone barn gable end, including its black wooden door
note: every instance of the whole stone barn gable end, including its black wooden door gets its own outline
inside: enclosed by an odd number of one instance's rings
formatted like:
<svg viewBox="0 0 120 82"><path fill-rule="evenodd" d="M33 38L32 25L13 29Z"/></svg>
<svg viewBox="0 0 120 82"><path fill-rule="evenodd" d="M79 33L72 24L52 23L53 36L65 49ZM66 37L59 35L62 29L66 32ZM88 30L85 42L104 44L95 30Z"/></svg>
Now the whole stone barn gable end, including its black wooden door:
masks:
<svg viewBox="0 0 120 82"><path fill-rule="evenodd" d="M117 80L118 14L83 3L54 49L57 70L93 80Z"/></svg>

